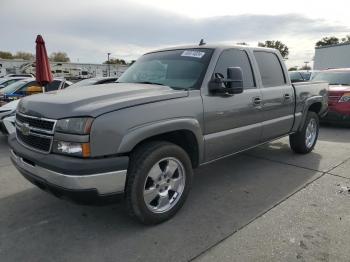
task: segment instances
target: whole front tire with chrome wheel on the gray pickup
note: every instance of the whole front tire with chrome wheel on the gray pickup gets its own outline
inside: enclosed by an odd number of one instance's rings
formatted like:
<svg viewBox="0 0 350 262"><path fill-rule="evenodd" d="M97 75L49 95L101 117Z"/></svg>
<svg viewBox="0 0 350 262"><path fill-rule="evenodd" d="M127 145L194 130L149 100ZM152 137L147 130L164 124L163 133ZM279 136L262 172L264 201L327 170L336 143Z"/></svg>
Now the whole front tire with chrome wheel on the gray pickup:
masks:
<svg viewBox="0 0 350 262"><path fill-rule="evenodd" d="M158 224L183 206L192 184L188 154L168 142L141 145L131 155L126 201L129 213L143 224Z"/></svg>

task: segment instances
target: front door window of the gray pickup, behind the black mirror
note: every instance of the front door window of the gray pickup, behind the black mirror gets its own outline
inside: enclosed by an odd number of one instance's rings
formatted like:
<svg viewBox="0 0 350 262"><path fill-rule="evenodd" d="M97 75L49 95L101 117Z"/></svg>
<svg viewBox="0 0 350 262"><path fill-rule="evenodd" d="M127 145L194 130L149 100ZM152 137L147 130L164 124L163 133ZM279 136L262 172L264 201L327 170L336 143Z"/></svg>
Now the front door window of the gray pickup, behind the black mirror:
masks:
<svg viewBox="0 0 350 262"><path fill-rule="evenodd" d="M215 73L220 73L226 78L228 67L240 67L242 69L244 89L255 88L252 67L245 51L238 49L223 51L216 64Z"/></svg>

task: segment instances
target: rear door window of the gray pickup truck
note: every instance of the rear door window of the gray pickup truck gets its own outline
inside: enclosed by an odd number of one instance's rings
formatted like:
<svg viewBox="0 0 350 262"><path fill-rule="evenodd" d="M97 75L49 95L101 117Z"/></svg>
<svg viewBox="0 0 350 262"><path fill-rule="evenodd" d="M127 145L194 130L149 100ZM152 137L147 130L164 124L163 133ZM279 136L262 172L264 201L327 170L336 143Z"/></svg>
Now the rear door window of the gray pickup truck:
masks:
<svg viewBox="0 0 350 262"><path fill-rule="evenodd" d="M274 87L286 84L282 65L276 54L255 51L254 56L258 62L261 80L264 87Z"/></svg>

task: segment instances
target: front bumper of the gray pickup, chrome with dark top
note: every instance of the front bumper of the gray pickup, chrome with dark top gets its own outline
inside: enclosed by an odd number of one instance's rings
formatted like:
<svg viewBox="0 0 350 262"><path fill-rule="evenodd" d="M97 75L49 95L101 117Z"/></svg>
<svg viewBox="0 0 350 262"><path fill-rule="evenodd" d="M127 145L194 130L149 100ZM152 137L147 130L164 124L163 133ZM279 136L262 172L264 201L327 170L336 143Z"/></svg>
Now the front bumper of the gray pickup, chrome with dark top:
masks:
<svg viewBox="0 0 350 262"><path fill-rule="evenodd" d="M9 145L11 160L21 174L56 196L94 204L124 193L128 157L79 159L42 154L23 147L14 135L9 136Z"/></svg>

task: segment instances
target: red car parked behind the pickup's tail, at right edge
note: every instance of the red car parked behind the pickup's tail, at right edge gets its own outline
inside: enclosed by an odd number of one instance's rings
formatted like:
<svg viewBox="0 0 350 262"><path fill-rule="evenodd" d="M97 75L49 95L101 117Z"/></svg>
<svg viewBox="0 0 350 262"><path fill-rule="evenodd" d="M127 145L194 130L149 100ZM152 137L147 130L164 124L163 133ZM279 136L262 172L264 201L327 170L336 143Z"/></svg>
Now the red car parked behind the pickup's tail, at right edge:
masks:
<svg viewBox="0 0 350 262"><path fill-rule="evenodd" d="M312 81L329 83L326 122L350 122L350 68L328 69L319 72Z"/></svg>

